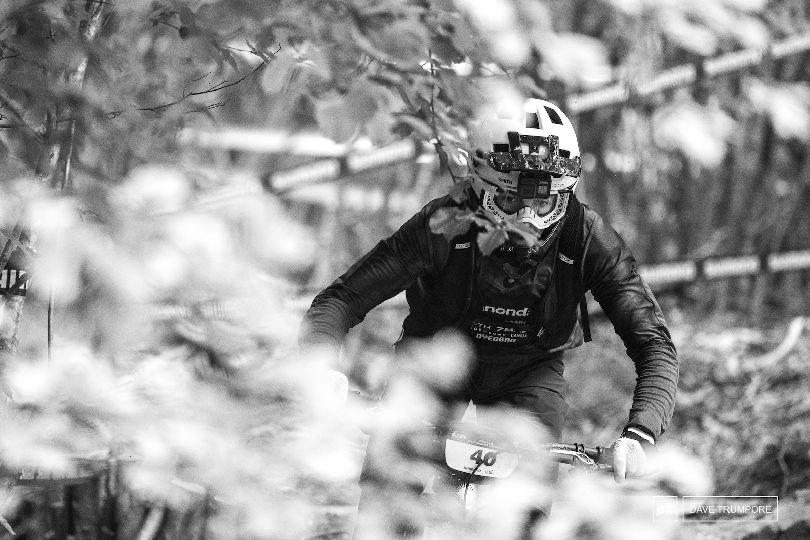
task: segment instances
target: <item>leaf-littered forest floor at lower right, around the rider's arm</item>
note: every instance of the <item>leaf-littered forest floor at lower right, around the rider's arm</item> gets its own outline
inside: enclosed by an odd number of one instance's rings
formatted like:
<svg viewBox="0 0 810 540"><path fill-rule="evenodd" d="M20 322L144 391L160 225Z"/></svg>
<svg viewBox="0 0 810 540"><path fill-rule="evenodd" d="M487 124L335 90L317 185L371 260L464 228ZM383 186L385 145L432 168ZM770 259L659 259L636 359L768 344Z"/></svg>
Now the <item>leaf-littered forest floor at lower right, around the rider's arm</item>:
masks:
<svg viewBox="0 0 810 540"><path fill-rule="evenodd" d="M594 342L566 356L570 409L564 438L606 445L627 420L635 373L610 323L594 322ZM712 495L779 497L778 523L684 523L683 538L810 538L807 320L782 317L754 325L733 313L676 312L670 329L680 381L661 446L705 463Z"/></svg>

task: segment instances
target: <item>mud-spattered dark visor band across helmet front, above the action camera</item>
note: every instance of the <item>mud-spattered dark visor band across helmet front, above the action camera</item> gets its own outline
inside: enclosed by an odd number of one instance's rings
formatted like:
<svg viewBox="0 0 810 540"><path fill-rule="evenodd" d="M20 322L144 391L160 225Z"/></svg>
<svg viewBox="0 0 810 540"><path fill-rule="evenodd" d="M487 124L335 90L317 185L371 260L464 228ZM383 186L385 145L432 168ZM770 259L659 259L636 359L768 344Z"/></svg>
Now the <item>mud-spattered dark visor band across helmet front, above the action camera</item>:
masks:
<svg viewBox="0 0 810 540"><path fill-rule="evenodd" d="M582 169L579 156L573 159L561 157L560 138L556 135L541 137L507 131L506 136L509 138L509 151L484 153L487 163L496 171L542 171L579 176ZM524 147L528 152L523 152Z"/></svg>

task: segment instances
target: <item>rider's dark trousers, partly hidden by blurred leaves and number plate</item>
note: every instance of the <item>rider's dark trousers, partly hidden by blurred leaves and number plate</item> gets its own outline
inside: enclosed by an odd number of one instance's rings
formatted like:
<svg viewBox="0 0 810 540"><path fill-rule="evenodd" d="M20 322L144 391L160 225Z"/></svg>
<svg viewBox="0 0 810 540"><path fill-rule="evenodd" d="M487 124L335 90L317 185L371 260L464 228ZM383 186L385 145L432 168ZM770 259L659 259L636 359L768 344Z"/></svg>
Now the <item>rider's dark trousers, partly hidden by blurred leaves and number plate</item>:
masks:
<svg viewBox="0 0 810 540"><path fill-rule="evenodd" d="M408 346L408 342L398 344L397 358L394 359L392 368L396 369L398 368L396 364L408 361ZM407 366L404 368L407 369ZM489 407L509 410L531 423L542 425L548 432L548 438L559 442L565 412L568 410L568 404L565 402L568 382L563 377L564 370L562 353L545 358L518 359L509 364L475 361L465 372L459 373L458 379L452 384L434 387L433 391L441 402L447 405L447 410L458 410L459 404L463 405L469 401L475 403L480 410ZM431 381L423 382L428 388L431 386ZM454 420L458 421L458 418ZM396 486L391 486L390 478L387 478L389 475L386 474L389 465L381 466L375 459L374 447L375 440L372 437L360 474L360 487L363 492L360 496L355 540L364 540L363 531L372 529L371 523L381 519L381 512L382 520L387 519L386 511L383 509L386 504L388 508L407 506L409 504L407 500L412 501L413 495L418 498L421 492L418 483L403 483L401 478ZM531 461L527 465L522 462L522 466L539 469L535 471L535 476L541 478L544 483L556 482L559 466L554 462ZM390 497L396 497L398 500L390 500ZM538 517L547 517L551 509L550 503L535 506L527 518L530 522L527 525L529 528ZM527 530L523 537L528 538L528 534Z"/></svg>

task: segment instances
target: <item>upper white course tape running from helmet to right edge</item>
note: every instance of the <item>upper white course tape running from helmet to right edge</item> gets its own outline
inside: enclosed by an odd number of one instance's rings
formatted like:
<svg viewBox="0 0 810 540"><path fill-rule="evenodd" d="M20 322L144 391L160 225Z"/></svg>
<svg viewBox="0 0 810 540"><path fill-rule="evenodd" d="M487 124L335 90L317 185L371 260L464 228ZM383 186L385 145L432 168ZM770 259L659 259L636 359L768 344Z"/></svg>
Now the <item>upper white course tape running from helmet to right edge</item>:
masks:
<svg viewBox="0 0 810 540"><path fill-rule="evenodd" d="M706 77L759 66L767 58L782 58L810 50L810 32L774 41L767 49L742 49L705 58L700 64L683 64L664 70L649 79L613 83L595 91L568 96L565 104L569 114L585 113L608 105L627 102L631 96L649 96L669 88L686 86L697 81L699 71ZM698 70L698 66L701 70Z"/></svg>

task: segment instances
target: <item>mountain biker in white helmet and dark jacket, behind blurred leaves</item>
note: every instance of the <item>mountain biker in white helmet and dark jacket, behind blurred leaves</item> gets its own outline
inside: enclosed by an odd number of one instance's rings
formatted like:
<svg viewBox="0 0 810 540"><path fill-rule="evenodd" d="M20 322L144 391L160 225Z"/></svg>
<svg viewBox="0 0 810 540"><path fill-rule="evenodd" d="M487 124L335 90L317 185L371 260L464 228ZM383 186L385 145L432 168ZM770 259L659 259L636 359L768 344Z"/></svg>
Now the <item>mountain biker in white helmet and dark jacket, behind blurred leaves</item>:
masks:
<svg viewBox="0 0 810 540"><path fill-rule="evenodd" d="M471 187L461 202L450 196L429 202L326 287L305 315L302 353L326 352L336 365L347 331L406 291L410 313L398 355L441 330L467 334L475 365L454 398L514 407L558 440L568 407L563 354L590 340L582 300L591 291L637 373L629 419L613 445L616 482L649 474L675 402L676 349L633 253L574 195L580 152L571 122L555 104L530 99L479 121L471 138ZM509 240L484 255L476 244L480 227L452 238L437 232L443 209L514 227ZM364 489L373 481L369 469L367 461Z"/></svg>

